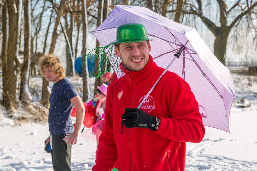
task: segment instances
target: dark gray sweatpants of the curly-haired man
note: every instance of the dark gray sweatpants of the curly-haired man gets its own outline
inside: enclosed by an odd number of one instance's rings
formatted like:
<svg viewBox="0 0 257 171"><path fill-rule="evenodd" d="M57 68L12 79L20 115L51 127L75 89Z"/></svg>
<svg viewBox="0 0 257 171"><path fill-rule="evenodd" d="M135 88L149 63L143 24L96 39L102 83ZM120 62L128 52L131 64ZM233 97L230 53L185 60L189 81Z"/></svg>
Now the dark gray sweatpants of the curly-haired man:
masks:
<svg viewBox="0 0 257 171"><path fill-rule="evenodd" d="M71 171L71 146L63 135L51 135L51 154L54 171Z"/></svg>

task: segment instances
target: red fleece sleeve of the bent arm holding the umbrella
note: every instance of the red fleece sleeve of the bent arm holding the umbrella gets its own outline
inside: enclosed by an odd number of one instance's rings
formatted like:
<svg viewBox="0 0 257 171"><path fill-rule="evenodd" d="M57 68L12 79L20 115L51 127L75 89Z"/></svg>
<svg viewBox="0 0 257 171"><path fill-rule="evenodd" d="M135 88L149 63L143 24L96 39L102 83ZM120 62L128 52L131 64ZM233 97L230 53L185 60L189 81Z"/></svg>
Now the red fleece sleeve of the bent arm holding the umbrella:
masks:
<svg viewBox="0 0 257 171"><path fill-rule="evenodd" d="M168 85L165 93L170 118L160 117L156 133L173 141L201 142L205 135L198 102L183 79L176 79Z"/></svg>

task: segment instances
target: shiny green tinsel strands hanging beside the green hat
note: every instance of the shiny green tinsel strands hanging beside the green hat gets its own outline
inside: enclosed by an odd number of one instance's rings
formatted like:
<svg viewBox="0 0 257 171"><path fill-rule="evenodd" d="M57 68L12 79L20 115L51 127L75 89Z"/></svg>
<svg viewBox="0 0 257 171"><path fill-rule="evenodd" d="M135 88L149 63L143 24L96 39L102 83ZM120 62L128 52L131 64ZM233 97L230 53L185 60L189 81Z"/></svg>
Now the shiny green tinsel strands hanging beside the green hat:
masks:
<svg viewBox="0 0 257 171"><path fill-rule="evenodd" d="M100 78L104 73L109 72L112 69L114 70L115 66L116 70L119 69L119 58L115 55L114 49L114 44L109 44L104 47L89 49L90 51L88 53L88 50L86 50L87 54L85 55L85 60L82 62L82 65L85 64L91 56L94 56L93 54L95 54L94 60L99 57L98 68L95 69L94 73L89 73L89 76L96 75L96 78ZM113 62L113 65L110 60Z"/></svg>

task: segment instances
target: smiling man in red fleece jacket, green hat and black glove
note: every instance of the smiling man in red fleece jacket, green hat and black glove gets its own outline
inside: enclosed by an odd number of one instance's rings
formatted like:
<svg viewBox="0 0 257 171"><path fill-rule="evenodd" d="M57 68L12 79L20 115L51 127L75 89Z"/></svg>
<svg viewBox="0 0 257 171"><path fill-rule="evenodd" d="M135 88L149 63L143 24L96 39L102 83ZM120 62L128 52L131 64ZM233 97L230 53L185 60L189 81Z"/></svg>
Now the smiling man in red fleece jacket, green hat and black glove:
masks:
<svg viewBox="0 0 257 171"><path fill-rule="evenodd" d="M198 103L189 85L167 71L139 109L139 103L163 73L149 54L145 27L117 29L115 54L124 76L109 85L103 132L92 170L184 170L186 142L205 134Z"/></svg>

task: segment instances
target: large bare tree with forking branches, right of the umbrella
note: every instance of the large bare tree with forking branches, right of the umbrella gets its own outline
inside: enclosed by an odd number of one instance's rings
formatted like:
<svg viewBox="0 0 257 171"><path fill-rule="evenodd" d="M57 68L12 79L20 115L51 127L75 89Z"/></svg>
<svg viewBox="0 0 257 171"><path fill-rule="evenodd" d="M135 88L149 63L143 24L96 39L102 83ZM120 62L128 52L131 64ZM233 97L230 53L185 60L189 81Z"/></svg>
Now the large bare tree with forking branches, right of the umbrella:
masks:
<svg viewBox="0 0 257 171"><path fill-rule="evenodd" d="M257 28L256 22L254 23L252 18L256 18L256 6L257 1L252 0L238 0L230 9L227 8L227 3L225 0L216 0L219 6L219 23L211 20L211 17L207 17L204 14L204 7L208 5L214 5L209 1L206 5L202 4L201 0L196 0L195 3L186 2L186 10L183 11L185 14L193 14L202 20L202 22L208 27L208 29L214 34L214 55L226 65L226 49L227 49L227 39L230 31L233 27L237 27L239 23L244 22L245 28ZM243 20L243 18L246 20Z"/></svg>

